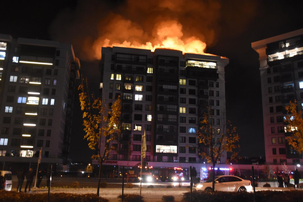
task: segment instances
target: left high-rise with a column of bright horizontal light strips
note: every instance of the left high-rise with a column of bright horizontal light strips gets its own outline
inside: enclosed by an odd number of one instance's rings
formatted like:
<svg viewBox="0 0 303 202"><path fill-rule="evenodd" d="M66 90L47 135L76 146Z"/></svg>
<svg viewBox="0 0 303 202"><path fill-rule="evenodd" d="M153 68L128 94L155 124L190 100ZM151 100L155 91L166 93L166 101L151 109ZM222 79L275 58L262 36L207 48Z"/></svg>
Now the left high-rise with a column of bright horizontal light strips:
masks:
<svg viewBox="0 0 303 202"><path fill-rule="evenodd" d="M69 163L79 68L70 44L0 35L1 169L36 164L41 147L42 167Z"/></svg>

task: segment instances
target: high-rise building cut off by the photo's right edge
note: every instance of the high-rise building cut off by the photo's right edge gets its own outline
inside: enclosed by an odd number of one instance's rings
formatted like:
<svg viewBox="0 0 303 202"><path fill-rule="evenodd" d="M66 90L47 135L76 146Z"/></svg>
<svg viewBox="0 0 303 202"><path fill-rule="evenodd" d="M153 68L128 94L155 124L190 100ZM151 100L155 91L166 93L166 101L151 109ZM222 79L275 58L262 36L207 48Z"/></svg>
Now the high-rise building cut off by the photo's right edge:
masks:
<svg viewBox="0 0 303 202"><path fill-rule="evenodd" d="M302 163L285 141L291 129L284 124L285 106L297 100L303 108L303 29L251 43L260 60L266 161Z"/></svg>

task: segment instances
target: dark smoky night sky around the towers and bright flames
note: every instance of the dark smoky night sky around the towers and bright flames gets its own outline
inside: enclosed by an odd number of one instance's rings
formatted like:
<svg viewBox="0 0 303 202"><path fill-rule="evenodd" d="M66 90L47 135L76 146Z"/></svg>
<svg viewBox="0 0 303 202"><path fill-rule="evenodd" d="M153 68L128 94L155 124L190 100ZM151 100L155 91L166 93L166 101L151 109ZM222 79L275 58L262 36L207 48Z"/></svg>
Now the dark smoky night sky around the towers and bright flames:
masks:
<svg viewBox="0 0 303 202"><path fill-rule="evenodd" d="M91 50L95 40L100 36L116 37L115 40L133 38L126 34L113 36L117 34L110 32L110 19L120 16L119 18L129 19L132 22L131 27L142 28L143 34L136 37L141 38L144 43L145 38L152 35L152 25L164 19L177 20L183 26L184 36L190 33L206 43L205 52L230 59L225 67L227 119L238 128L241 137L240 156L264 156L259 61L258 54L251 48L251 42L303 28L303 2L131 2L2 2L0 33L12 35L13 38L38 38L71 43L76 57L80 58L81 74L91 81L89 85L92 91L98 93L99 61L93 58L94 53ZM142 2L145 5L141 5ZM174 7L171 2L180 6ZM163 10L163 5L173 9ZM140 12L136 12L137 10ZM75 102L70 157L72 161L88 162L93 151L88 149L87 141L83 140L77 98Z"/></svg>

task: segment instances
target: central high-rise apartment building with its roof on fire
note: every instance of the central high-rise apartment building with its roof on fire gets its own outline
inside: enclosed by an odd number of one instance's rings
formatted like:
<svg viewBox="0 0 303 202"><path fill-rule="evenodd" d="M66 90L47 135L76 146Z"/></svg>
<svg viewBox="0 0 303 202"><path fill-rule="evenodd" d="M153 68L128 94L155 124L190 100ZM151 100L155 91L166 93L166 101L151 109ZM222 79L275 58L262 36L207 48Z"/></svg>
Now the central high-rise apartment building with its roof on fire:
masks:
<svg viewBox="0 0 303 202"><path fill-rule="evenodd" d="M102 47L102 100L111 106L120 95L122 101L122 133L105 165L140 162L145 131L143 161L158 167L201 167L205 160L198 153L205 148L197 132L208 106L214 133L225 120L227 64L227 58L215 55ZM226 153L219 161L225 163Z"/></svg>

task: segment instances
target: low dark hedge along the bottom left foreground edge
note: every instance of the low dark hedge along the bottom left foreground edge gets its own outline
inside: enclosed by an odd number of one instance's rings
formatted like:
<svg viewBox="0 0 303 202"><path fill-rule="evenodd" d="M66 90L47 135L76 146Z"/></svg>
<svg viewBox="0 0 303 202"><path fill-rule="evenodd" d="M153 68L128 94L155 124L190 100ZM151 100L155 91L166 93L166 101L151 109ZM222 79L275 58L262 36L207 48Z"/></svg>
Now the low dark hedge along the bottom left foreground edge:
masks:
<svg viewBox="0 0 303 202"><path fill-rule="evenodd" d="M15 191L0 190L0 201L10 202L44 202L47 201L48 195L45 194L27 194L18 193ZM68 194L68 193L51 193L51 202L66 201L66 202L108 202L106 198L98 197L96 194Z"/></svg>

